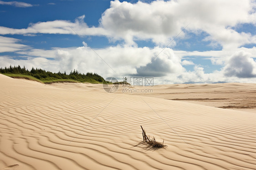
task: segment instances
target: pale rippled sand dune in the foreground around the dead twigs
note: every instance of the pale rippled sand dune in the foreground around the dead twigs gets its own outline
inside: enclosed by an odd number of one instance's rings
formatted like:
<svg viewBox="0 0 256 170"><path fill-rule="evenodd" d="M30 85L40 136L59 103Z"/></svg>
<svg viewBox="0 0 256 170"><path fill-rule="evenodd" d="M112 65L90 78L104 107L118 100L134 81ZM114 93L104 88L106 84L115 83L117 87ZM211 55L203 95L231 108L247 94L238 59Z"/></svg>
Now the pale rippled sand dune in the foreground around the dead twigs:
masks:
<svg viewBox="0 0 256 170"><path fill-rule="evenodd" d="M255 113L0 75L0 170L255 170L255 140Z"/></svg>

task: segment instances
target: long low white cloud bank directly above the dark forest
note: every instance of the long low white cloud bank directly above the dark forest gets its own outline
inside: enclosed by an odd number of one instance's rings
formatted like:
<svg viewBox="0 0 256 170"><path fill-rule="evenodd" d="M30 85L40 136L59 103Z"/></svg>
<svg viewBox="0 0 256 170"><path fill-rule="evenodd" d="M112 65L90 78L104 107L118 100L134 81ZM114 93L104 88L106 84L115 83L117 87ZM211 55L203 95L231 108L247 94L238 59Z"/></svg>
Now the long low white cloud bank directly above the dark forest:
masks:
<svg viewBox="0 0 256 170"><path fill-rule="evenodd" d="M78 48L52 48L51 50L29 49L17 51L23 57L22 60L12 60L5 57L6 62L0 63L0 66L25 65L28 68L32 64L45 70L53 72L69 72L77 69L86 73L97 72L98 74L108 76L163 76L168 73L180 73L185 71L181 65L181 59L174 55L174 51L166 48L155 47L127 47L110 46L102 49L92 50L87 45ZM157 58L155 58L155 56ZM3 59L3 58L2 58ZM42 64L37 61L42 60ZM48 63L48 64L43 64ZM106 64L107 63L107 64Z"/></svg>

